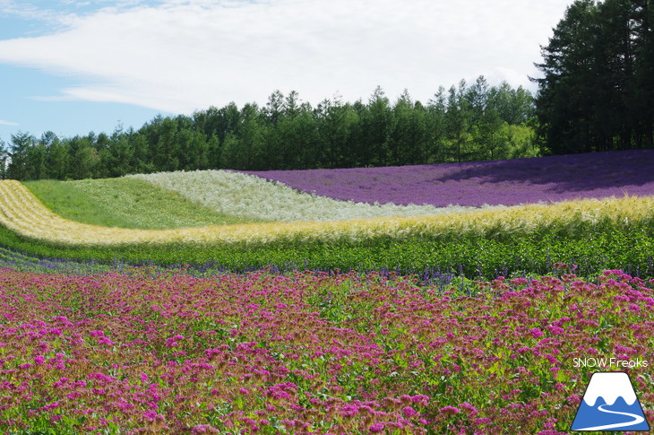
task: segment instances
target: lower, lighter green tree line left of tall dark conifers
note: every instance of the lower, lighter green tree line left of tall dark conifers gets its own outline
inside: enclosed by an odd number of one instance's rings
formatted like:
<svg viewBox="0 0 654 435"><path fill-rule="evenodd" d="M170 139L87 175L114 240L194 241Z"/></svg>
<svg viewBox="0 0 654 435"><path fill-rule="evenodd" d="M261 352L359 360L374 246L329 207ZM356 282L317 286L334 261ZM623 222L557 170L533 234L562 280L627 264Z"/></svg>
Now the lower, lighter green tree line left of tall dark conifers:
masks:
<svg viewBox="0 0 654 435"><path fill-rule="evenodd" d="M168 170L298 170L400 166L540 154L535 102L483 76L443 87L426 104L404 91L391 102L377 87L364 103L339 96L315 108L296 91L274 91L260 107L234 102L192 116L158 116L138 130L117 127L0 141L0 177L80 179Z"/></svg>

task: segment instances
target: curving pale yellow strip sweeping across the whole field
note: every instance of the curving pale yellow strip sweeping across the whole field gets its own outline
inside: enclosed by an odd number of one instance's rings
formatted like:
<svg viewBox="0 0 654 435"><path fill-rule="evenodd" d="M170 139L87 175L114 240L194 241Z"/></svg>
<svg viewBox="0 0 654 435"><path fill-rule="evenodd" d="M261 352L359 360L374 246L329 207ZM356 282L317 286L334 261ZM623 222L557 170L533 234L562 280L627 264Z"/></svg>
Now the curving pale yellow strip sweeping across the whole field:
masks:
<svg viewBox="0 0 654 435"><path fill-rule="evenodd" d="M122 244L159 245L170 242L265 243L276 240L364 240L378 236L453 236L481 233L491 236L563 230L582 225L629 225L654 222L654 196L528 204L499 210L339 222L273 222L181 228L129 230L69 221L48 210L22 183L0 181L0 224L17 234L67 246Z"/></svg>

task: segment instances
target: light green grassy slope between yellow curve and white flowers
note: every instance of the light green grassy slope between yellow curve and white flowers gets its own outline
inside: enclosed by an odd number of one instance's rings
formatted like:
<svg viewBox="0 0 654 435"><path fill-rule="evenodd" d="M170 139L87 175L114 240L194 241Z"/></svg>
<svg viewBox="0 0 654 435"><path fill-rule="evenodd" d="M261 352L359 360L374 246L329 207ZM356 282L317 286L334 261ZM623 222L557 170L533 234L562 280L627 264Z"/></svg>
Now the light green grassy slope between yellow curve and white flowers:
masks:
<svg viewBox="0 0 654 435"><path fill-rule="evenodd" d="M106 227L164 230L263 222L212 211L136 178L39 180L24 184L60 216Z"/></svg>

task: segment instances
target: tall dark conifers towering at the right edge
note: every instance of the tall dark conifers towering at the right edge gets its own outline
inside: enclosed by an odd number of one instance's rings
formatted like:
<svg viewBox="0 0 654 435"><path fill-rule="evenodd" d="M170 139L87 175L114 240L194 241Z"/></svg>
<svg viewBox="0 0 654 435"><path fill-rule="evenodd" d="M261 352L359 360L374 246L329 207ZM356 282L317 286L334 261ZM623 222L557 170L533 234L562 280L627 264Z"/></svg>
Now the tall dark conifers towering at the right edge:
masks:
<svg viewBox="0 0 654 435"><path fill-rule="evenodd" d="M654 1L576 0L542 48L539 135L555 153L654 144Z"/></svg>

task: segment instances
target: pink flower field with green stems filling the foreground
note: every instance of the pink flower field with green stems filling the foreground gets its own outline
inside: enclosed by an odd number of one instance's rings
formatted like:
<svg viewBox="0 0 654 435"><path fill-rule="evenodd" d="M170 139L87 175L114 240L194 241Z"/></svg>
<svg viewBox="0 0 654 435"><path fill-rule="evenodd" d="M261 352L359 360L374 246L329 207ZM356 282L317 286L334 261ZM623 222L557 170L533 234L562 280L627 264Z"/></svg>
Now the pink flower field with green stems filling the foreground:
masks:
<svg viewBox="0 0 654 435"><path fill-rule="evenodd" d="M0 273L7 433L566 433L590 374L654 363L652 282ZM615 368L614 368L615 369ZM627 371L652 422L650 368Z"/></svg>

